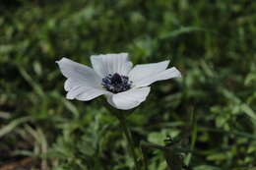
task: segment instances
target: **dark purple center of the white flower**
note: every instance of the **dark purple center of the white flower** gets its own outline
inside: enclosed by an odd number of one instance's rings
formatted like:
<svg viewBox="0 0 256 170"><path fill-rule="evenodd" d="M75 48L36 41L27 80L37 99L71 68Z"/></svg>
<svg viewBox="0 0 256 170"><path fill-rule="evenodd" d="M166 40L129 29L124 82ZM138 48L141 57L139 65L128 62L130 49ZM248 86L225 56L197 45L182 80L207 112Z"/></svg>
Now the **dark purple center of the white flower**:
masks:
<svg viewBox="0 0 256 170"><path fill-rule="evenodd" d="M130 89L132 82L129 82L129 78L127 76L115 73L113 75L109 74L103 78L101 85L108 91L118 93Z"/></svg>

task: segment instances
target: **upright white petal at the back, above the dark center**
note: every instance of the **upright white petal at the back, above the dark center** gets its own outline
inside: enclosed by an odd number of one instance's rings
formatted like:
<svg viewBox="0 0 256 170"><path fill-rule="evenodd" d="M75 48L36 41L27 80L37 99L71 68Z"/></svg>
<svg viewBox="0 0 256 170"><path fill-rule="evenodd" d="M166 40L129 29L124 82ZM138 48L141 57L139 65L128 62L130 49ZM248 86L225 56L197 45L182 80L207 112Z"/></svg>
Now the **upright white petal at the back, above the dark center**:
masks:
<svg viewBox="0 0 256 170"><path fill-rule="evenodd" d="M127 76L132 69L127 53L92 55L91 62L101 78L114 73Z"/></svg>

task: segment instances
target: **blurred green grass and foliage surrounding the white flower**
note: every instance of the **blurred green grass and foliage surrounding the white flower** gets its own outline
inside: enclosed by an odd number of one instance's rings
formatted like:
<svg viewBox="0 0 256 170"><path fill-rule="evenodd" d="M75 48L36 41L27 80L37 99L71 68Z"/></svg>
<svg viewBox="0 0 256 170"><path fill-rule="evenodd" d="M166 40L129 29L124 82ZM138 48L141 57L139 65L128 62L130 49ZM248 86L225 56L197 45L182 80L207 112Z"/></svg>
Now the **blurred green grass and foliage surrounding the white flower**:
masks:
<svg viewBox="0 0 256 170"><path fill-rule="evenodd" d="M137 144L189 132L194 113L193 170L255 169L255 37L253 0L1 0L0 169L132 169L118 121L97 99L67 100L55 64L117 52L183 75L129 117ZM162 152L147 157L167 168Z"/></svg>

